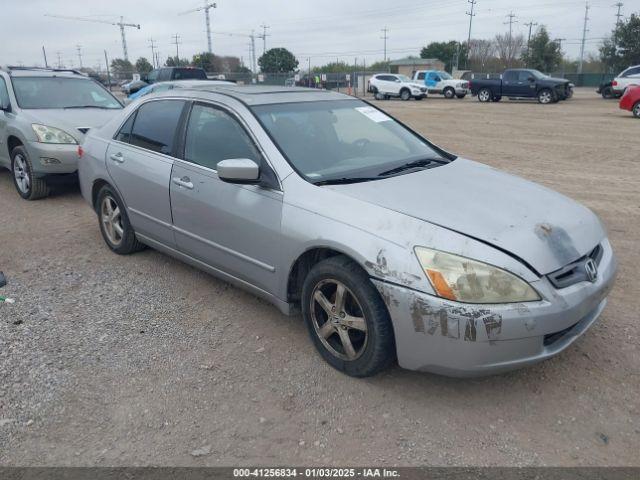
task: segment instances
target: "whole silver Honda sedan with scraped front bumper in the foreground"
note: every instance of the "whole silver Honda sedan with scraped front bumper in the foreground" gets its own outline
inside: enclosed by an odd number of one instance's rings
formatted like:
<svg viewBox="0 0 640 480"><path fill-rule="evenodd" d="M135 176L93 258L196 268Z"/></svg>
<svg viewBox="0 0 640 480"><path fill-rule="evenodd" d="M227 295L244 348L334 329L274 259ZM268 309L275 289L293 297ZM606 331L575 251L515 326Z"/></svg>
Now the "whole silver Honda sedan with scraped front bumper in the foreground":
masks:
<svg viewBox="0 0 640 480"><path fill-rule="evenodd" d="M320 355L357 377L539 362L593 325L614 283L589 209L346 95L173 90L79 153L111 250L150 246L301 312Z"/></svg>

